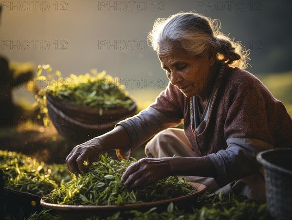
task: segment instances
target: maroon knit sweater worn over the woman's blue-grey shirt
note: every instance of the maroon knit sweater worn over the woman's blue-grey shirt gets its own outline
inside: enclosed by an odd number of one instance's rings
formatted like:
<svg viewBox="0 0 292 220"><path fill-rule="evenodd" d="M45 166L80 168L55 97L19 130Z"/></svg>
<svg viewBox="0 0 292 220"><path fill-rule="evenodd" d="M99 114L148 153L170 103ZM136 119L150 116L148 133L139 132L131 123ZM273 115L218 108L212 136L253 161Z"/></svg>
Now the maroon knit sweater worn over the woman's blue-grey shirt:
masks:
<svg viewBox="0 0 292 220"><path fill-rule="evenodd" d="M190 98L169 83L150 107L175 120L201 155L226 149L229 138L253 138L274 147L292 147L292 119L282 102L251 73L226 66L205 129L197 134L190 120Z"/></svg>

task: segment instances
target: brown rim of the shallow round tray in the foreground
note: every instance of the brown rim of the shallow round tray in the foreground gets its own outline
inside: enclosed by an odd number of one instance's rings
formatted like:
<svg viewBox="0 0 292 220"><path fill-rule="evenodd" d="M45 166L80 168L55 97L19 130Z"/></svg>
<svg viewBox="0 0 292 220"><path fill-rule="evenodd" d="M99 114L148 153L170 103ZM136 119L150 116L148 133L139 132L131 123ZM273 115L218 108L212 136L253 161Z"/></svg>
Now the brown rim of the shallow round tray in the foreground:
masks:
<svg viewBox="0 0 292 220"><path fill-rule="evenodd" d="M206 190L206 185L202 183L192 183L188 182L190 185L197 190L196 193L192 193L185 196L180 196L167 200L160 200L154 202L141 202L134 204L124 204L124 205L65 205L65 204L54 204L49 202L44 202L43 198L40 200L40 205L45 208L55 209L55 210L63 210L63 211L97 211L97 210L131 210L135 208L142 207L153 207L158 205L167 204L170 202L179 202L191 198L196 198L203 194Z"/></svg>

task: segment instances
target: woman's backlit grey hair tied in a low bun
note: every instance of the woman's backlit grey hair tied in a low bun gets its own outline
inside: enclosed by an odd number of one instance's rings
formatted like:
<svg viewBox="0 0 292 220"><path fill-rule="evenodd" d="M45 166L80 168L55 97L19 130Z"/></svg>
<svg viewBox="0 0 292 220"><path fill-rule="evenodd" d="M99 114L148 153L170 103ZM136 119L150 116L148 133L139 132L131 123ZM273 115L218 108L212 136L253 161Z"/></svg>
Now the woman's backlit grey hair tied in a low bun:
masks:
<svg viewBox="0 0 292 220"><path fill-rule="evenodd" d="M248 67L249 50L241 42L234 42L220 31L218 20L193 12L180 12L169 18L156 19L148 35L151 47L157 51L164 42L172 42L187 53L206 55L214 47L217 60L232 67Z"/></svg>

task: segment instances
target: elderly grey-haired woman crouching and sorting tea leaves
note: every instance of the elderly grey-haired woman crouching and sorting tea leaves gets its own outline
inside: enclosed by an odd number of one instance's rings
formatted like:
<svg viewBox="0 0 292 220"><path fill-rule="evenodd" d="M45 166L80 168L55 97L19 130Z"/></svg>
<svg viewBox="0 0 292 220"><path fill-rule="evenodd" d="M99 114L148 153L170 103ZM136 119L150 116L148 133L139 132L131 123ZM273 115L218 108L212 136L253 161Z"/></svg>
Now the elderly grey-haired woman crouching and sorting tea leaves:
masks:
<svg viewBox="0 0 292 220"><path fill-rule="evenodd" d="M146 155L122 181L144 187L170 175L265 201L263 170L256 154L292 146L292 119L284 105L251 73L246 51L223 35L214 20L179 13L156 20L149 34L169 84L156 101L110 132L73 148L72 173L115 148L119 158L151 137ZM184 129L170 128L183 120ZM168 128L168 129L167 129ZM173 155L176 155L173 157Z"/></svg>

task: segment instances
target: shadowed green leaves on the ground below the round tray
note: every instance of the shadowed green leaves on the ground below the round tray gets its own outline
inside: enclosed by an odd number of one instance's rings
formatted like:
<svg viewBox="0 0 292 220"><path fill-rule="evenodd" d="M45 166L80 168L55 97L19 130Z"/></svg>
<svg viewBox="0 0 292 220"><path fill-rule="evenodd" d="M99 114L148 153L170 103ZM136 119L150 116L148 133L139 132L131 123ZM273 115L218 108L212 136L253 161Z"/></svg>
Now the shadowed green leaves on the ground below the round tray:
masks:
<svg viewBox="0 0 292 220"><path fill-rule="evenodd" d="M126 212L129 220L273 220L267 204L259 204L246 196L235 194L201 195L188 210L179 209L169 203L165 210L158 211L156 207L146 212L131 210ZM61 220L61 217L50 216L48 213L35 213L28 220L49 219ZM87 220L124 220L121 212L111 214L106 218L91 216Z"/></svg>

